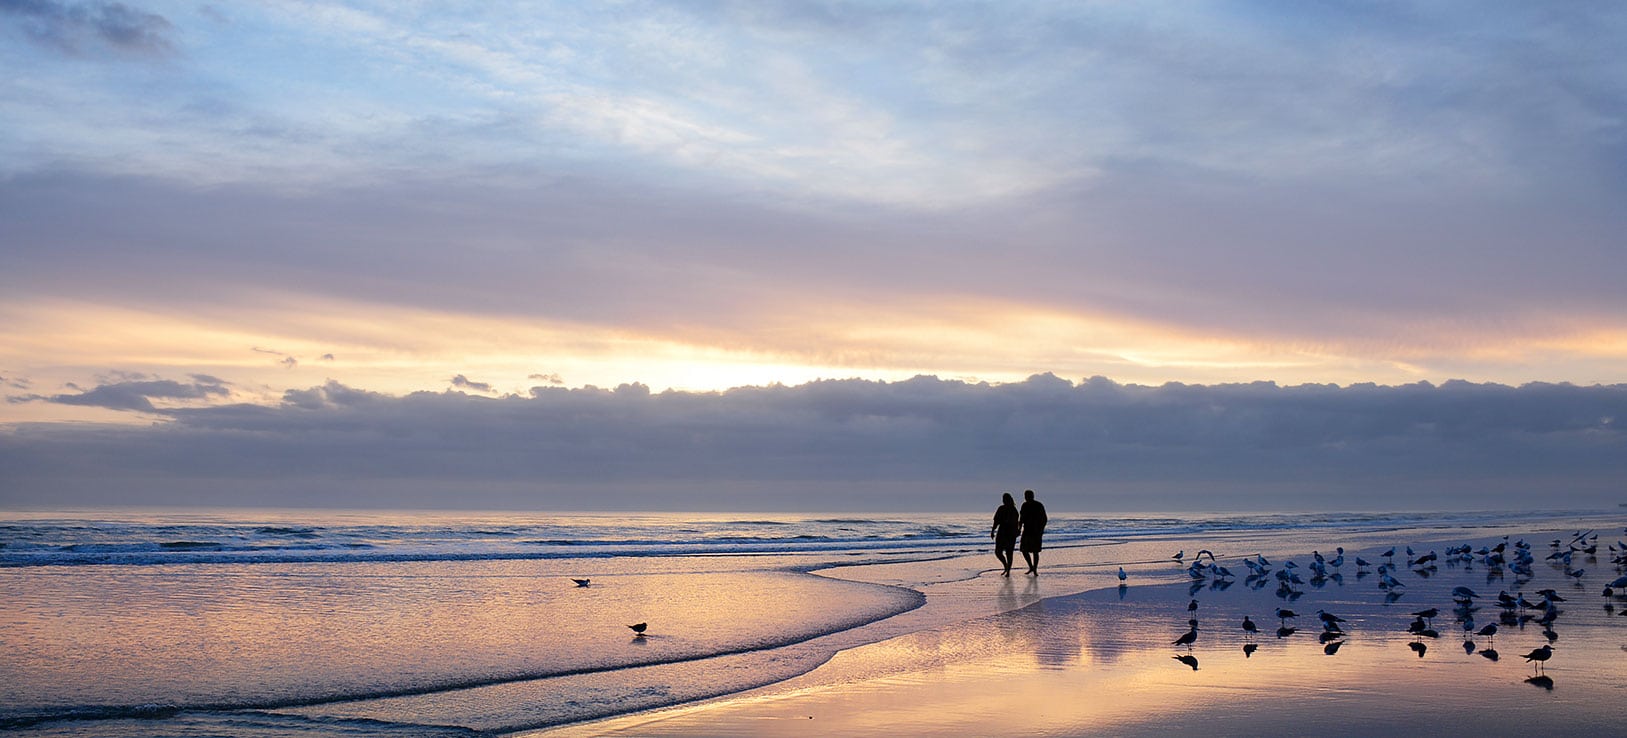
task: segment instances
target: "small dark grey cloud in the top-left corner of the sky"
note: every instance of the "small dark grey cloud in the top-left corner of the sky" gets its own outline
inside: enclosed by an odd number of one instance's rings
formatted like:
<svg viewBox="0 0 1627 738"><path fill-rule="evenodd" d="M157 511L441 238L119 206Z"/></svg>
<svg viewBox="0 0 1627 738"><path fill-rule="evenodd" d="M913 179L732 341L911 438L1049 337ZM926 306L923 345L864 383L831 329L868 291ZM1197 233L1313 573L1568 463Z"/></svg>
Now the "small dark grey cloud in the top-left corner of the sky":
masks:
<svg viewBox="0 0 1627 738"><path fill-rule="evenodd" d="M0 13L18 18L23 33L34 42L67 54L80 55L93 49L133 55L174 52L169 20L125 3L0 0Z"/></svg>

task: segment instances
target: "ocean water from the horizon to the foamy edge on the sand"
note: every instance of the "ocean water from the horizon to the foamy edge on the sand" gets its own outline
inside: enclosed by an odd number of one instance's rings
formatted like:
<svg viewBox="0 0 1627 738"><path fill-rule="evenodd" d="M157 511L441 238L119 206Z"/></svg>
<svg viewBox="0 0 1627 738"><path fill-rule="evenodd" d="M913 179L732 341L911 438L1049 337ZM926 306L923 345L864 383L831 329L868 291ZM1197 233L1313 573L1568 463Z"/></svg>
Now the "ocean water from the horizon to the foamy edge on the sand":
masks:
<svg viewBox="0 0 1627 738"><path fill-rule="evenodd" d="M1139 541L1578 515L1056 515L1046 545L1145 564ZM0 512L0 730L504 733L732 694L896 632L872 624L926 601L919 582L810 572L949 562L924 571L976 577L994 566L978 556L988 527L988 514Z"/></svg>

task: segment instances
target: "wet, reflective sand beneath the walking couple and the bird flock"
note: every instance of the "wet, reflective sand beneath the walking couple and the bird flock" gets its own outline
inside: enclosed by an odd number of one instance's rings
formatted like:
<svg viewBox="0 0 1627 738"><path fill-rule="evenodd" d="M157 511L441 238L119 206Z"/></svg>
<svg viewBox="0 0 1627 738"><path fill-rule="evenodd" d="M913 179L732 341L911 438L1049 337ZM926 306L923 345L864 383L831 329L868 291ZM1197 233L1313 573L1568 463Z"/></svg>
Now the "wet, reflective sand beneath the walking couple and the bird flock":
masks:
<svg viewBox="0 0 1627 738"><path fill-rule="evenodd" d="M691 705L623 715L539 736L940 736L940 735L1627 735L1627 600L1601 597L1619 575L1607 545L1619 517L1578 520L1598 530L1598 554L1577 556L1580 580L1546 561L1551 541L1573 530L1485 527L1407 532L1285 532L1225 540L1101 541L1048 551L1035 580L1012 579L983 558L885 564L827 572L919 588L927 605L872 627L898 631L851 647L802 676ZM1399 551L1479 549L1503 535L1531 543L1534 577L1474 562L1409 569ZM1339 577L1279 597L1277 580L1246 582L1240 559L1264 553L1280 569L1305 567L1311 551L1346 548ZM1398 548L1404 587L1386 597L1378 575L1359 575L1355 556L1383 561ZM1233 569L1230 585L1194 582L1168 559L1176 548L1210 548ZM1191 561L1191 556L1188 556ZM1111 572L1128 564L1128 587ZM1469 587L1474 610L1455 614L1453 587ZM1500 590L1554 588L1565 598L1551 627L1503 624L1495 637L1466 637L1498 623ZM1197 610L1188 603L1197 600ZM1282 621L1284 606L1300 616ZM1435 637L1414 636L1411 613L1437 608ZM1316 611L1346 619L1329 649ZM984 613L984 614L979 614ZM1243 616L1259 624L1250 637ZM1173 640L1199 621L1188 647ZM1277 629L1295 631L1279 637ZM1469 642L1466 642L1469 640ZM1551 644L1539 671L1524 653ZM1329 653L1331 650L1331 653ZM1196 665L1196 668L1193 668Z"/></svg>

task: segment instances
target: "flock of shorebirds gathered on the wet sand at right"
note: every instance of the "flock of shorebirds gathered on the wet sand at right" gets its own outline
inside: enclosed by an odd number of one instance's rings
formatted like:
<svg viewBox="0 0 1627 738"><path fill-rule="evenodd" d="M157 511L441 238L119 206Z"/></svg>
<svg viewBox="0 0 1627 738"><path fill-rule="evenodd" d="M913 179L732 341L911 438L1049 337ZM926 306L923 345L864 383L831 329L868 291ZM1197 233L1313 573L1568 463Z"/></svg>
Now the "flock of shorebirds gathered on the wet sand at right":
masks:
<svg viewBox="0 0 1627 738"><path fill-rule="evenodd" d="M1544 559L1552 569L1560 572L1568 580L1575 582L1577 587L1583 587L1583 575L1586 569L1577 567L1578 562L1598 562L1598 533L1577 532L1567 543L1564 540L1554 540L1549 548L1552 553ZM1503 541L1495 546L1482 546L1474 549L1469 545L1446 548L1442 554L1435 551L1415 553L1411 546L1406 548L1406 564L1404 567L1396 566L1396 549L1380 553L1376 558L1383 559L1376 566L1360 556L1354 556L1355 577L1365 579L1376 572L1378 588L1385 593L1385 603L1393 603L1402 597L1406 584L1396 577L1398 571L1407 571L1419 577L1433 575L1438 567L1445 562L1446 566L1472 566L1481 564L1487 571L1487 582L1503 579L1505 572L1513 574L1513 585L1516 593L1510 595L1508 590L1502 590L1495 598L1487 598L1479 595L1469 587L1453 587L1451 601L1453 606L1448 611L1458 627L1463 632L1463 649L1464 653L1479 653L1487 660L1498 660L1500 655L1495 649L1495 637L1500 627L1520 627L1524 629L1526 624L1536 624L1542 627L1542 636L1547 639L1541 647L1531 649L1524 655L1524 660L1533 665L1533 676L1526 679L1536 686L1552 689L1554 681L1544 673L1546 662L1554 657L1554 640L1559 634L1554 631L1554 623L1559 619L1560 613L1559 603L1565 601L1565 597L1554 588L1542 588L1533 593L1534 600L1526 598L1523 587L1536 575L1534 566L1538 562L1536 553L1531 545L1524 540ZM1188 575L1193 580L1189 593L1197 595L1199 590L1210 588L1227 588L1235 582L1235 575L1230 569L1222 566L1215 554L1204 549L1197 551L1186 559L1186 551L1178 551L1171 559L1186 567ZM1204 561L1207 559L1207 562ZM1627 600L1627 541L1617 541L1607 545L1607 561L1614 567L1617 577L1604 585L1604 597L1607 600L1606 610L1614 611L1612 601ZM1310 579L1298 572L1300 566L1293 561L1285 561L1280 567L1274 566L1264 556L1256 554L1253 558L1241 559L1241 566L1248 569L1248 575L1243 579L1245 585L1254 590L1267 587L1272 580L1277 582L1276 595L1284 600L1284 605L1290 605L1305 595L1303 585L1308 582L1315 587L1321 587L1326 582L1342 584L1341 569L1346 566L1344 548L1336 548L1333 558L1323 556L1319 551L1311 551L1311 562L1305 567ZM1123 567L1118 571L1119 587L1126 587L1129 579ZM1575 595L1573 595L1575 597ZM1479 624L1476 616L1481 611L1477 603L1495 601L1497 603L1497 619ZM1186 653L1176 653L1173 658L1176 662L1197 670L1197 658L1191 653L1193 644L1197 642L1197 600L1191 600L1186 605L1188 629L1178 636L1171 645L1184 647ZM1298 623L1300 614L1287 606L1276 608L1272 613L1277 619L1276 636L1285 639L1293 636L1298 627L1292 626L1290 621ZM1440 608L1425 608L1409 613L1412 621L1406 626L1406 632L1411 636L1407 644L1412 652L1420 658L1429 650L1429 640L1438 639L1442 634L1435 629L1435 618L1442 614ZM1622 610L1627 616L1627 608ZM1316 619L1321 624L1321 634L1318 642L1323 652L1334 655L1339 647L1346 644L1347 631L1346 618L1333 614L1326 610L1316 611ZM1258 649L1254 637L1259 634L1259 624L1253 618L1243 616L1243 655L1251 657ZM1474 639L1484 639L1487 645L1482 649Z"/></svg>

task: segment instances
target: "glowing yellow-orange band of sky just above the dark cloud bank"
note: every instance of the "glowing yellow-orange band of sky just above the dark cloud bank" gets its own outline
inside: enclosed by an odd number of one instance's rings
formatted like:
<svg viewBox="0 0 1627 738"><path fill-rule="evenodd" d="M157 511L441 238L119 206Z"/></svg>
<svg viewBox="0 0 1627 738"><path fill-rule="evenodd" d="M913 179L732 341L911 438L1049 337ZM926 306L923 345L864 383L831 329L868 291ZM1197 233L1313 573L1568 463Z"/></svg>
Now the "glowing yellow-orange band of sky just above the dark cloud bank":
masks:
<svg viewBox="0 0 1627 738"><path fill-rule="evenodd" d="M1318 341L1220 335L1108 314L945 296L888 306L802 306L732 325L613 327L527 315L260 296L231 309L181 312L73 301L0 304L0 371L11 397L70 393L120 372L190 374L231 384L215 402L277 403L329 380L384 393L527 393L532 387L714 392L744 385L919 374L1020 382L1053 372L1126 384L1411 384L1469 379L1612 382L1627 333L1554 320L1551 333L1435 330L1411 341ZM454 376L469 384L452 385ZM488 389L486 389L488 387ZM8 403L0 423L106 418L104 411ZM122 415L125 421L133 421ZM140 418L142 423L151 418Z"/></svg>

